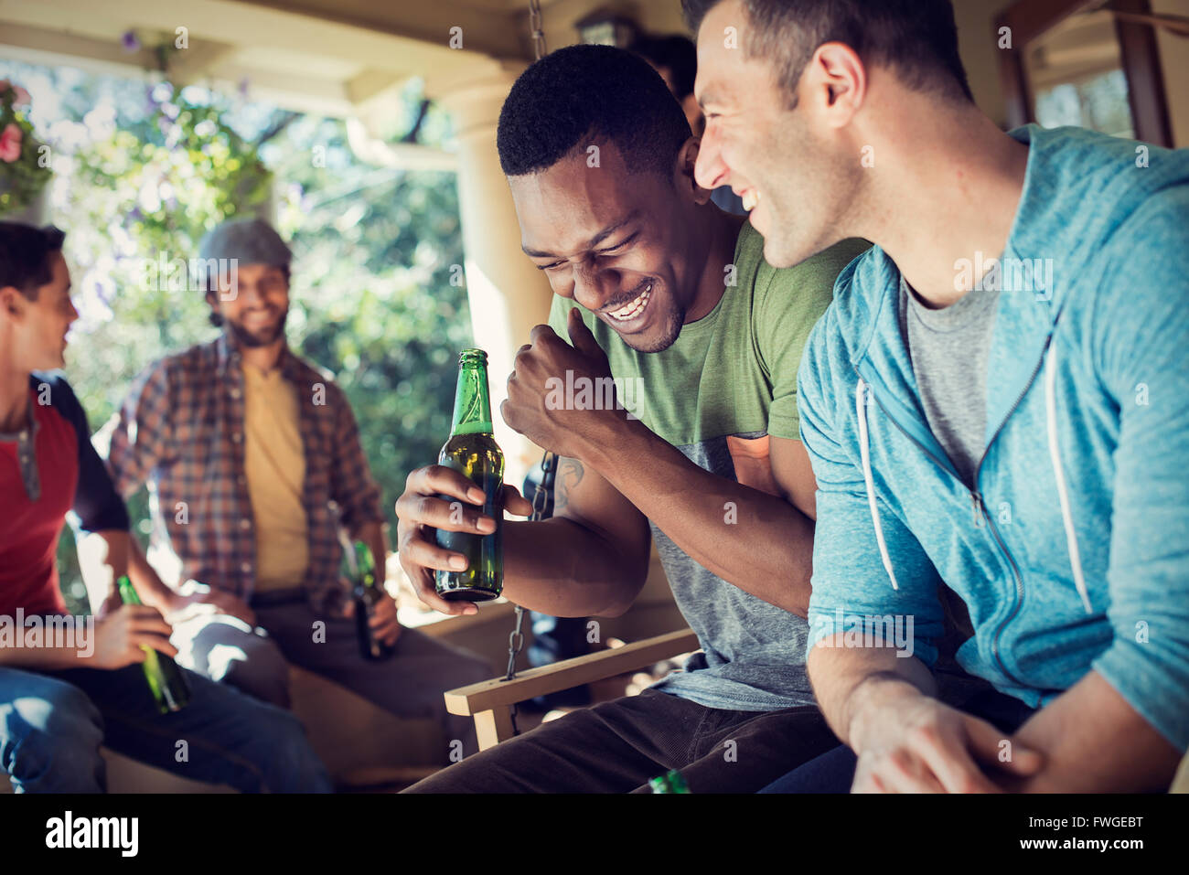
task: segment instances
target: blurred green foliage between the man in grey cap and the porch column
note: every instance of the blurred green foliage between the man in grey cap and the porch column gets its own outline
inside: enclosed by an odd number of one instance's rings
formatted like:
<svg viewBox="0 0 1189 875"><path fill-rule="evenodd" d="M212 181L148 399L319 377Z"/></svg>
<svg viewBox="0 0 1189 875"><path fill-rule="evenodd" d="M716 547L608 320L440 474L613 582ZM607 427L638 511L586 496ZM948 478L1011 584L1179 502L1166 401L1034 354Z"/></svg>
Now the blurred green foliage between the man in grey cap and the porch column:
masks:
<svg viewBox="0 0 1189 875"><path fill-rule="evenodd" d="M342 147L335 122L303 119L291 133ZM277 170L290 182L279 225L302 265L289 336L351 399L395 525L405 476L449 436L458 351L472 344L465 290L451 285L463 264L458 195L447 174L327 165L295 152Z"/></svg>

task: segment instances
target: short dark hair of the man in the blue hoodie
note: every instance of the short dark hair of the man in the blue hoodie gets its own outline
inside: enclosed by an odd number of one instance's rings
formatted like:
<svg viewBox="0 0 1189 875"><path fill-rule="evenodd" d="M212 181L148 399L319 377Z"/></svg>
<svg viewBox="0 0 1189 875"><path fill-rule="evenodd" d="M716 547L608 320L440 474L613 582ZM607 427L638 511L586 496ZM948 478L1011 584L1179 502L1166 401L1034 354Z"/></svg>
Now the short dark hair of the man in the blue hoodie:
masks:
<svg viewBox="0 0 1189 875"><path fill-rule="evenodd" d="M681 0L697 33L722 0ZM864 63L887 64L910 88L974 102L958 55L950 0L742 0L748 57L766 57L795 106L805 65L824 43L844 43Z"/></svg>

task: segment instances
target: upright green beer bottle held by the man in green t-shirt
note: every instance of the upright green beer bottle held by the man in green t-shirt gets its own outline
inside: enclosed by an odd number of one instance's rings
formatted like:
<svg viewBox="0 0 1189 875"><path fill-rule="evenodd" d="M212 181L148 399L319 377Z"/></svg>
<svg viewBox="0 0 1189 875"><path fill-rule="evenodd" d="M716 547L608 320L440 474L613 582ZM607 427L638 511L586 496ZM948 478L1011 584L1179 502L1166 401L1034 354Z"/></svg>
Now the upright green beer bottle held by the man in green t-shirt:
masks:
<svg viewBox="0 0 1189 875"><path fill-rule="evenodd" d="M496 598L504 588L504 454L491 429L487 353L483 350L464 350L458 357L454 424L438 454L438 464L461 472L482 489L483 512L496 521L496 530L490 535L436 530L438 546L461 553L468 562L465 571L434 572L438 594L447 602Z"/></svg>

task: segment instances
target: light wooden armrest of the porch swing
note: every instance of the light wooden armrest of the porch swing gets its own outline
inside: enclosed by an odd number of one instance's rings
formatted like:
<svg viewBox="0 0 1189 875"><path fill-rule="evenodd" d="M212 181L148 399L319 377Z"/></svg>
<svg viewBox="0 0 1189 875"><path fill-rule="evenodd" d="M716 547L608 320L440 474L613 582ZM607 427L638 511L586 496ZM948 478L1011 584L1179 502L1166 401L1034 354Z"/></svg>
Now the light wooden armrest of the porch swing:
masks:
<svg viewBox="0 0 1189 875"><path fill-rule="evenodd" d="M517 701L556 693L617 674L631 672L680 653L697 650L698 636L691 629L658 635L614 650L575 656L552 666L529 668L512 680L495 678L479 684L446 691L446 710L452 715L472 716Z"/></svg>

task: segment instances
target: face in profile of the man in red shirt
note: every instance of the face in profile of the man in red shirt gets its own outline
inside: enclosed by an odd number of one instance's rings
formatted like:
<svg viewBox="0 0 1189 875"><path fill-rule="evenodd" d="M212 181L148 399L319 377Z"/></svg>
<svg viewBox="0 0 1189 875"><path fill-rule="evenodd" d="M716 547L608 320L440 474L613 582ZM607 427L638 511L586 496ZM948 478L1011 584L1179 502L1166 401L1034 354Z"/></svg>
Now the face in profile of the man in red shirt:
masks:
<svg viewBox="0 0 1189 875"><path fill-rule="evenodd" d="M61 252L49 254L51 279L32 300L13 287L0 289L10 331L12 363L24 371L54 371L65 365L67 332L78 319L70 301L70 271Z"/></svg>

